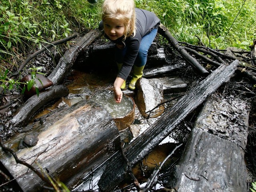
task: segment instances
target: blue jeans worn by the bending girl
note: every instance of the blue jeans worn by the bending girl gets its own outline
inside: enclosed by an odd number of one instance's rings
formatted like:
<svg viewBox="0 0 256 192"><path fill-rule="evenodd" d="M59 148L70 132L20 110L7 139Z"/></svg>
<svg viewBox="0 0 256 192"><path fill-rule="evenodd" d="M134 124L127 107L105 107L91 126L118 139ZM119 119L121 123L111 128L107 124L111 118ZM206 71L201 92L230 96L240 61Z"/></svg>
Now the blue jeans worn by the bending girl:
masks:
<svg viewBox="0 0 256 192"><path fill-rule="evenodd" d="M140 49L136 57L136 60L134 62L134 65L136 65L137 67L142 67L146 64L147 57L148 57L148 49L150 48L150 45L154 41L154 38L156 37L156 33L157 33L157 29L153 29L151 30L150 33L142 37L142 40L140 42ZM116 62L123 63L126 50L127 50L127 46L124 49L118 49L117 47L115 48Z"/></svg>

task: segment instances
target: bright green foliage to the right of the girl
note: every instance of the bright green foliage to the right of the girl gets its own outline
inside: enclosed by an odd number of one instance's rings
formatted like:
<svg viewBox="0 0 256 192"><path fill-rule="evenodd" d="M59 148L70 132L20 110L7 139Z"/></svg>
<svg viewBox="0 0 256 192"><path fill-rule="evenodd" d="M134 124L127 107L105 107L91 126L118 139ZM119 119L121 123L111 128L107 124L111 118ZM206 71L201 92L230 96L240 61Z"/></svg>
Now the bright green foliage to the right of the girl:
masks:
<svg viewBox="0 0 256 192"><path fill-rule="evenodd" d="M256 36L256 0L136 0L156 13L179 41L249 49Z"/></svg>

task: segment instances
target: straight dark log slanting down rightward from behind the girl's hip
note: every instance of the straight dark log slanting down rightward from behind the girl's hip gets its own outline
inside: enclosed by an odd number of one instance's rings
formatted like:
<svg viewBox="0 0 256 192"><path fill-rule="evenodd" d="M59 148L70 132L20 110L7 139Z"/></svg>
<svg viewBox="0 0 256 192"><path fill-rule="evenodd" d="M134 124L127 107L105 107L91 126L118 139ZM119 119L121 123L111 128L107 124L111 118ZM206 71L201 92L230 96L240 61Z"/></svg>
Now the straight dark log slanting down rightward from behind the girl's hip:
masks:
<svg viewBox="0 0 256 192"><path fill-rule="evenodd" d="M193 58L186 50L184 49L183 46L180 46L178 44L178 41L171 35L171 33L168 31L168 29L163 26L162 24L158 28L158 33L161 34L163 37L165 37L168 42L184 57L186 61L188 61L200 74L206 75L209 72L203 68L198 61Z"/></svg>

